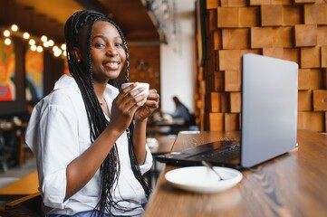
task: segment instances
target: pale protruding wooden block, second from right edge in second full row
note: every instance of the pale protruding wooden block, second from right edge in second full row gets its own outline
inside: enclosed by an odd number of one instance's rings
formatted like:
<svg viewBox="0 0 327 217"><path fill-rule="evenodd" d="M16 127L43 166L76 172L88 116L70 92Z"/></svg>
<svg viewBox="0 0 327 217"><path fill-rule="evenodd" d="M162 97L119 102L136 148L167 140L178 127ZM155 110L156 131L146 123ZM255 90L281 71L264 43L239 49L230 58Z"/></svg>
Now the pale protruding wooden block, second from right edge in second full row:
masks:
<svg viewBox="0 0 327 217"><path fill-rule="evenodd" d="M294 27L295 46L308 47L317 45L317 24L297 24Z"/></svg>

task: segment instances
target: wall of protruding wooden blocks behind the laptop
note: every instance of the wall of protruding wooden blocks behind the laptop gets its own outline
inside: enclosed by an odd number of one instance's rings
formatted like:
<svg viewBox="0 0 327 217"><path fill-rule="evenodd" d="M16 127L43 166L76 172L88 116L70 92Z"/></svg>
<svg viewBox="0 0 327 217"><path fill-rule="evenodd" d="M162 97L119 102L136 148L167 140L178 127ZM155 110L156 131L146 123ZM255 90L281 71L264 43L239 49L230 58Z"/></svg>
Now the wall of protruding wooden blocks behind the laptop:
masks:
<svg viewBox="0 0 327 217"><path fill-rule="evenodd" d="M253 52L298 63L298 128L326 132L327 1L207 0L206 14L202 129L240 129L241 60Z"/></svg>

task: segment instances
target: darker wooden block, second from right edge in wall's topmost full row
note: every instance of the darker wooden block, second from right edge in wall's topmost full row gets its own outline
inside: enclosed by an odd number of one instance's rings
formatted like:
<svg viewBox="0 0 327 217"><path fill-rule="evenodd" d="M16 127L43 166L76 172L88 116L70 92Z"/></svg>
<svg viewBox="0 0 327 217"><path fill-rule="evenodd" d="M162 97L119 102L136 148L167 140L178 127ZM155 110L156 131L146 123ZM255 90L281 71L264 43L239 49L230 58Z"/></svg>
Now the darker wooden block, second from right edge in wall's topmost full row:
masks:
<svg viewBox="0 0 327 217"><path fill-rule="evenodd" d="M300 5L283 5L283 25L302 24Z"/></svg>

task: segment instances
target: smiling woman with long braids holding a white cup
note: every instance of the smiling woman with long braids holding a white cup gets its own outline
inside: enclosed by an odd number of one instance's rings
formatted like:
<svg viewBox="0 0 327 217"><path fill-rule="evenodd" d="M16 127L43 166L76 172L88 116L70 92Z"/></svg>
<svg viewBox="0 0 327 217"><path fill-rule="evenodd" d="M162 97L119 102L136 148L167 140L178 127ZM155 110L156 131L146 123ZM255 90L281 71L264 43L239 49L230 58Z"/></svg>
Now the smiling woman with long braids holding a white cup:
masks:
<svg viewBox="0 0 327 217"><path fill-rule="evenodd" d="M44 212L139 216L150 193L142 177L152 165L146 124L159 95L137 96L143 91L133 90L137 82L119 91L123 69L128 80L129 51L120 28L103 14L72 14L64 33L72 77L63 75L35 106L26 131Z"/></svg>

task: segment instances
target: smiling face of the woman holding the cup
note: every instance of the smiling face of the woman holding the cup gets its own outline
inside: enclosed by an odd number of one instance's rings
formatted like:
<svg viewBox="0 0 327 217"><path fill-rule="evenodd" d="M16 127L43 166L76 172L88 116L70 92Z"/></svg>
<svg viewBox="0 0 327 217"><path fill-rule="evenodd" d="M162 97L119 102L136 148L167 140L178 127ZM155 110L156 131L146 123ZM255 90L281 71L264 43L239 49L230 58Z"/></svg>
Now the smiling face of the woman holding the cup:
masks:
<svg viewBox="0 0 327 217"><path fill-rule="evenodd" d="M86 31L85 31L86 32ZM82 35L82 61L87 62L87 33ZM120 75L126 61L126 52L120 33L112 24L104 21L93 25L91 38L91 67L93 80L107 82Z"/></svg>

